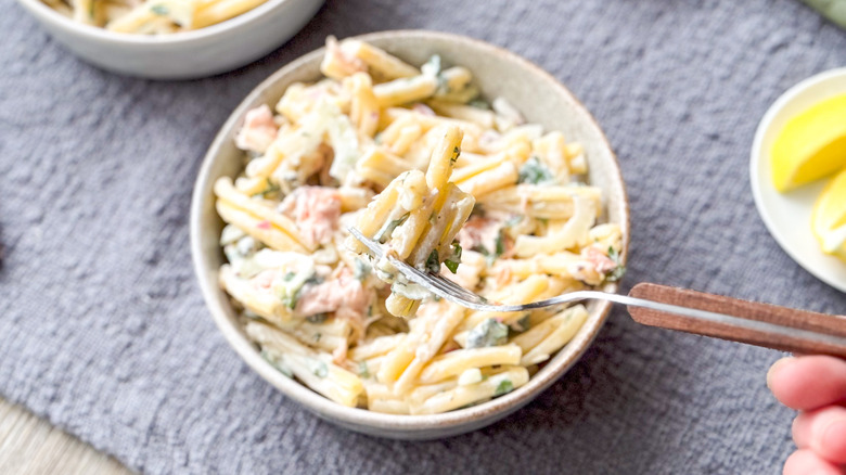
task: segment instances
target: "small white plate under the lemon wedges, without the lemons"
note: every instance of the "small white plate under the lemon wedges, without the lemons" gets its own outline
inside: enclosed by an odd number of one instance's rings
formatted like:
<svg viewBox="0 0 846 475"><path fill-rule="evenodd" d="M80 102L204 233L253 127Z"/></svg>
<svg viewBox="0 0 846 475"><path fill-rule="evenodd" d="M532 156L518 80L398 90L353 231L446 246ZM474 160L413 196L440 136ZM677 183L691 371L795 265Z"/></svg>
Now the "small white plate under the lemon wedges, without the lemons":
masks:
<svg viewBox="0 0 846 475"><path fill-rule="evenodd" d="M779 193L772 185L770 150L787 120L820 101L844 93L846 68L818 74L792 87L760 120L749 163L755 205L770 234L799 266L841 292L846 292L846 264L824 254L810 230L811 209L826 180Z"/></svg>

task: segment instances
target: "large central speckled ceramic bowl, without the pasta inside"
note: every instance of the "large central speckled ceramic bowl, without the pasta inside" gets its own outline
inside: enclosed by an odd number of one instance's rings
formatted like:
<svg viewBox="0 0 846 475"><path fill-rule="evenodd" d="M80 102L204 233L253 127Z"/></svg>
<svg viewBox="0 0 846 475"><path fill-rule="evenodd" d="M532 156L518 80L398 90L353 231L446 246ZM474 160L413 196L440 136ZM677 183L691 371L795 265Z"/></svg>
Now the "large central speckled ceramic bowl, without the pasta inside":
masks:
<svg viewBox="0 0 846 475"><path fill-rule="evenodd" d="M552 76L508 51L470 38L434 31L385 31L359 37L401 57L422 64L440 54L445 64L470 68L485 97L504 97L531 123L560 130L580 141L589 162L589 181L602 188L606 217L623 229L625 258L628 249L629 215L626 191L614 153L590 113ZM611 305L592 301L589 318L573 341L559 351L524 386L488 402L434 415L395 415L343 407L284 376L267 361L244 334L229 298L218 286L218 268L223 256L218 245L222 221L215 213L211 187L221 176L234 177L243 167L243 152L233 137L246 111L260 104L275 104L295 81L320 77L318 50L290 63L260 84L238 106L206 154L194 188L191 207L191 251L200 285L215 322L235 351L270 384L319 416L343 427L382 437L432 439L477 429L516 411L566 372L591 344L605 322ZM604 287L616 292L615 284Z"/></svg>

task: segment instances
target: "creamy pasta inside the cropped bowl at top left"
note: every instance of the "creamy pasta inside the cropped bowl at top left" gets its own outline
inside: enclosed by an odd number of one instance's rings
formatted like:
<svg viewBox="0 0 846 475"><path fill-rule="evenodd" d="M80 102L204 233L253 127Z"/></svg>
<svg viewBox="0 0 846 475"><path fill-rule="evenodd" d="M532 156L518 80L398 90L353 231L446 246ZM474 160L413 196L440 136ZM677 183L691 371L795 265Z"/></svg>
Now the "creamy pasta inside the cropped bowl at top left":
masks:
<svg viewBox="0 0 846 475"><path fill-rule="evenodd" d="M267 0L42 0L79 23L111 31L161 35L203 28Z"/></svg>

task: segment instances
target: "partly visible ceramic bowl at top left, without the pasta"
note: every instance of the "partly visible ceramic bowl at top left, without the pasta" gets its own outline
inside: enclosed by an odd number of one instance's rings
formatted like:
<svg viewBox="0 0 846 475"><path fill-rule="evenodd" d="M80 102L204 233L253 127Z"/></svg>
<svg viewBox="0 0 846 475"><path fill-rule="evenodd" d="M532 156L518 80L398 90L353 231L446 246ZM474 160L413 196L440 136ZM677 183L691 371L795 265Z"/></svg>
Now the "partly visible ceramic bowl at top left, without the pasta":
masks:
<svg viewBox="0 0 846 475"><path fill-rule="evenodd" d="M226 22L169 35L108 31L67 18L41 0L18 0L47 31L82 60L114 73L190 79L232 70L296 34L323 0L268 0Z"/></svg>

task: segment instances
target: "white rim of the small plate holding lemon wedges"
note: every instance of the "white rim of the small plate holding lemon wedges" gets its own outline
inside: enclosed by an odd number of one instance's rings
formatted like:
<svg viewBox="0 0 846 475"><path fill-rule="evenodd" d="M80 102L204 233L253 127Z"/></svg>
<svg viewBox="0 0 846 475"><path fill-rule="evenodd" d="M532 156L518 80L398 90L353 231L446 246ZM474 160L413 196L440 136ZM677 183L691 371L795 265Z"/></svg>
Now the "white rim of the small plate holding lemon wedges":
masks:
<svg viewBox="0 0 846 475"><path fill-rule="evenodd" d="M779 247L784 251L794 262L805 269L808 273L822 281L823 283L841 291L846 292L846 282L839 281L832 277L824 267L821 268L815 264L807 255L802 254L796 249L789 239L784 235L782 227L779 226L772 217L772 209L768 206L768 201L764 197L764 190L761 188L761 181L769 182L769 177L761 177L761 163L764 163L769 155L769 151L764 150L764 140L767 132L772 128L772 124L781 112L791 104L798 95L805 91L820 87L831 79L846 79L846 67L836 67L833 69L823 70L817 73L810 77L807 77L799 82L791 86L787 90L781 93L776 101L767 108L767 112L761 116L758 127L755 129L755 136L752 141L752 150L749 152L749 185L752 188L752 197L755 202L755 207L758 210L764 226L770 233L773 240L779 244ZM764 165L767 170L770 170L769 165ZM771 185L771 183L768 183ZM816 244L816 243L815 243Z"/></svg>

